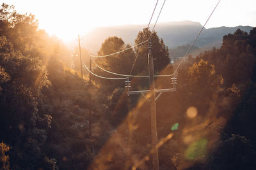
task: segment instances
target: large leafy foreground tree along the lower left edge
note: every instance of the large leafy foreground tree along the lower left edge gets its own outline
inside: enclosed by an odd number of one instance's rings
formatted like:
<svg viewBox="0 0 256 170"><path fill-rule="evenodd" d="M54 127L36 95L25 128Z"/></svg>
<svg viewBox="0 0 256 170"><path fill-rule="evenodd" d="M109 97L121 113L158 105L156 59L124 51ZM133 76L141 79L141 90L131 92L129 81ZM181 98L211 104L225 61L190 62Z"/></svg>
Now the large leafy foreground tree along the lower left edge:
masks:
<svg viewBox="0 0 256 170"><path fill-rule="evenodd" d="M11 168L39 168L51 127L51 116L38 111L41 89L50 85L47 71L36 57L16 52L5 37L0 41L0 140L12 146Z"/></svg>

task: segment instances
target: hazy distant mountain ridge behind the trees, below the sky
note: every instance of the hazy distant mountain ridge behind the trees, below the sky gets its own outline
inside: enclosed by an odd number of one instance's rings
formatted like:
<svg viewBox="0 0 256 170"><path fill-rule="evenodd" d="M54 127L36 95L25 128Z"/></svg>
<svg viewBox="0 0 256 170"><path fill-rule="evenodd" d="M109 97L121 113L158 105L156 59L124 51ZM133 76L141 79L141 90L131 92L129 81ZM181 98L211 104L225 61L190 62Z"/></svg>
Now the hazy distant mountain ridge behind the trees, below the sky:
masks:
<svg viewBox="0 0 256 170"><path fill-rule="evenodd" d="M84 47L92 52L97 52L103 41L109 36L118 36L125 43L134 45L134 39L139 31L147 25L119 25L111 27L99 27L86 35ZM156 26L156 31L159 38L164 39L164 43L169 48L184 46L190 44L200 31L202 25L199 22L191 22L189 20L181 22L163 22ZM237 29L250 32L253 27L237 26L237 27L216 27L204 29L200 37L195 43L195 46L203 49L209 49L213 46L219 47L222 43L222 38L228 33L234 33Z"/></svg>

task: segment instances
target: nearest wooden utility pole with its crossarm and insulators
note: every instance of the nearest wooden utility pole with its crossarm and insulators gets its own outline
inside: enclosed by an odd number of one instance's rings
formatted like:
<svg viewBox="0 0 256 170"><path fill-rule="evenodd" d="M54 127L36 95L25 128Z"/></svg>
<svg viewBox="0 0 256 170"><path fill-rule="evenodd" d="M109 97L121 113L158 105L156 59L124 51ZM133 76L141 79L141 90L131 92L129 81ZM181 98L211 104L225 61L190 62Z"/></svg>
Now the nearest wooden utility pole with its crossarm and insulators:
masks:
<svg viewBox="0 0 256 170"><path fill-rule="evenodd" d="M141 94L143 97L150 102L150 117L151 117L151 139L152 139L152 167L154 170L159 170L159 159L158 159L158 140L157 140L157 125L156 125L156 101L157 99L163 94L163 92L174 92L176 91L176 84L177 78L171 78L171 84L173 88L170 89L155 89L155 82L154 82L154 63L153 63L153 55L152 55L152 43L149 41L148 43L148 70L149 70L149 83L150 83L150 90L140 90L140 91L130 91L131 88L131 81L129 77L125 81L125 90L127 95L130 96L132 94ZM150 98L148 99L145 94L149 93ZM157 93L157 96L156 96Z"/></svg>

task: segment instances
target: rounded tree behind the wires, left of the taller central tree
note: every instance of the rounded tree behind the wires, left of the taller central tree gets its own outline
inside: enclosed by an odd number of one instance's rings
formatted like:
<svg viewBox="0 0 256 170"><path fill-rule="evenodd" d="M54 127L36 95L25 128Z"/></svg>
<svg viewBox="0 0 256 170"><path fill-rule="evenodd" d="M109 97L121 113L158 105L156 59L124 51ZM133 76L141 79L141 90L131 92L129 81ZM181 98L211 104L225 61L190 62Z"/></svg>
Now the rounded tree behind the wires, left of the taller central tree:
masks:
<svg viewBox="0 0 256 170"><path fill-rule="evenodd" d="M125 45L122 38L118 38L116 36L109 37L102 43L102 46L98 52L99 55L108 55L110 53L119 52L121 50L124 50L126 48L131 47L130 45ZM104 69L119 73L119 74L129 74L132 62L134 60L134 51L131 49L126 50L121 53L117 53L115 55L111 55L108 57L102 57L99 59L96 59L95 62ZM93 63L92 63L93 64ZM95 70L95 73L100 74L102 76L106 77L118 77L110 73L106 73L105 71L102 71L101 69ZM102 85L102 92L104 94L107 94L110 96L114 89L118 87L124 87L124 81L123 80L102 80L101 78L95 78L94 80L100 83Z"/></svg>

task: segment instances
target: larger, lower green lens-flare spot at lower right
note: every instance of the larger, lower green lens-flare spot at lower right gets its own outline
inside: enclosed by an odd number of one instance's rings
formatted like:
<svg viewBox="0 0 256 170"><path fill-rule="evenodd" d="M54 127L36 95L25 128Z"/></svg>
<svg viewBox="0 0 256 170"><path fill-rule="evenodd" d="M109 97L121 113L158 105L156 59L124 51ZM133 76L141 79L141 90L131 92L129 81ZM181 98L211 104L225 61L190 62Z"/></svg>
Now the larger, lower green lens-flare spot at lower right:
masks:
<svg viewBox="0 0 256 170"><path fill-rule="evenodd" d="M204 157L207 153L206 151L206 146L207 146L207 139L202 138L191 145L188 146L188 148L185 151L185 157L188 160L195 160L195 159L200 159Z"/></svg>

